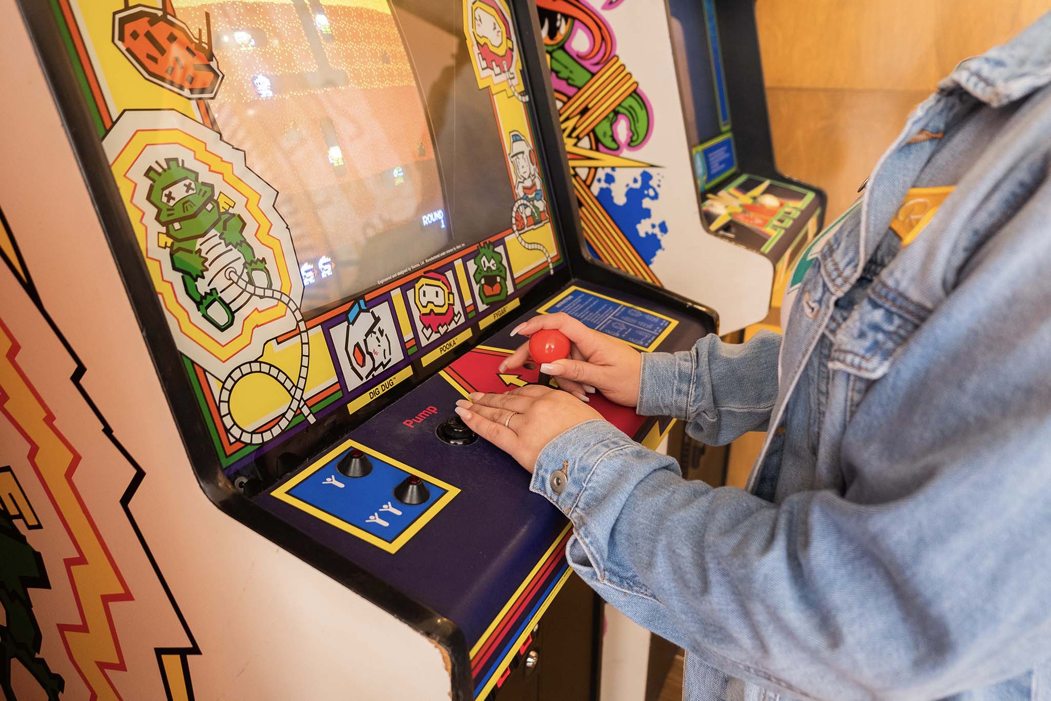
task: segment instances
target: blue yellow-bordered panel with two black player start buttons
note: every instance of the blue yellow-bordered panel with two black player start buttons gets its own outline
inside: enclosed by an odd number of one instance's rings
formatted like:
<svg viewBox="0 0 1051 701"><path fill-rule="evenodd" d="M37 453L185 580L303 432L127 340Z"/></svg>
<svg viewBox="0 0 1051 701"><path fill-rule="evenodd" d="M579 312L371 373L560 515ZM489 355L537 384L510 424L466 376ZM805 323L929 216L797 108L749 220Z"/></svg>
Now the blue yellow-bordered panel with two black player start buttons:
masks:
<svg viewBox="0 0 1051 701"><path fill-rule="evenodd" d="M372 472L364 477L347 477L336 470L336 466L352 448L347 446L334 456L330 453L327 456L330 459L309 468L305 477L302 473L297 475L296 483L283 490L284 493L331 518L393 543L448 492L425 475L410 473L368 451ZM430 490L424 503L410 506L394 496L394 488L411 474L417 474Z"/></svg>

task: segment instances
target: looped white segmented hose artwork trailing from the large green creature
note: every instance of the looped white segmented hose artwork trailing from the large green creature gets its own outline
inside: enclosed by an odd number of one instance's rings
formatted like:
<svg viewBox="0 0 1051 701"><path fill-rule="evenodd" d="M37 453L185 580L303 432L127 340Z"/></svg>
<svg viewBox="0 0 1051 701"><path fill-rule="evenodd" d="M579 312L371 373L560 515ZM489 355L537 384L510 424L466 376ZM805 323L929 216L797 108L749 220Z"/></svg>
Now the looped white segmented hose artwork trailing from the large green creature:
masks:
<svg viewBox="0 0 1051 701"><path fill-rule="evenodd" d="M226 277L239 287L242 291L248 294L266 297L270 300L276 300L288 307L289 311L295 317L295 326L300 332L300 371L296 374L295 382L289 377L284 370L277 368L269 363L263 363L262 360L250 360L248 363L242 363L236 368L226 376L223 380L223 387L219 391L219 413L223 418L223 426L226 427L226 432L234 440L240 440L244 444L259 445L270 440L292 422L295 418L295 414L302 412L307 420L313 424L317 420L313 413L310 411L310 407L307 406L304 399L304 393L307 386L307 369L310 366L310 339L307 336L307 323L303 319L303 314L300 312L300 306L295 304L292 297L288 296L280 290L271 290L266 287L259 287L250 282L248 279L247 271L243 271L240 275L233 268L227 268ZM288 409L282 415L281 419L265 431L249 431L238 425L234 420L232 414L230 414L230 394L233 392L233 387L241 380L242 377L250 375L252 373L262 373L273 377L279 383L284 386L285 391L288 392L291 401L288 405Z"/></svg>

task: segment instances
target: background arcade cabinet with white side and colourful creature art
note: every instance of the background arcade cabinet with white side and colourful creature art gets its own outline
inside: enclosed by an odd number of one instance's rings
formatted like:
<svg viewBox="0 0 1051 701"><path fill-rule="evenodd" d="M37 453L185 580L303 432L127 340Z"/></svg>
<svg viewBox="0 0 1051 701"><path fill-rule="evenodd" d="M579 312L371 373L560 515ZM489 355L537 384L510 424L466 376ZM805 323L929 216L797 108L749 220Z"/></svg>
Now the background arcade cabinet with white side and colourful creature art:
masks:
<svg viewBox="0 0 1051 701"><path fill-rule="evenodd" d="M589 254L761 321L824 193L775 167L754 3L536 2Z"/></svg>

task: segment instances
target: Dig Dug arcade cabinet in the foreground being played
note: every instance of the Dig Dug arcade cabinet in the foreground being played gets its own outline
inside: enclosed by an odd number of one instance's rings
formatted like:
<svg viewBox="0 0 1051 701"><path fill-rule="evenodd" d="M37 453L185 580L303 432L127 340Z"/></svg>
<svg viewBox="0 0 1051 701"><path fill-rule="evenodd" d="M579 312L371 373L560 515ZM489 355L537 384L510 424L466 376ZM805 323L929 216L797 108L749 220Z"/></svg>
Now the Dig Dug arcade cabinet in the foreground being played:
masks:
<svg viewBox="0 0 1051 701"><path fill-rule="evenodd" d="M0 21L5 698L594 698L569 524L452 409L533 314L715 318L588 255L536 8Z"/></svg>

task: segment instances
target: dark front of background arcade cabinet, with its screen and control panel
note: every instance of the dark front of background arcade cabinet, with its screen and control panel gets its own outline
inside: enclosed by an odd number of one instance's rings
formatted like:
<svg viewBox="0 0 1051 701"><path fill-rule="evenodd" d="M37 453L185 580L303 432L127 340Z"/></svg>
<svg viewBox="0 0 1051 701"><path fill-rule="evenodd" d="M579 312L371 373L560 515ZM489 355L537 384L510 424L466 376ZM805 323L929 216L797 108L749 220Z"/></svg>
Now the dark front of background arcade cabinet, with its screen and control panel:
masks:
<svg viewBox="0 0 1051 701"><path fill-rule="evenodd" d="M826 199L774 162L755 2L667 6L704 225L770 262L771 305L780 306L788 271L822 226Z"/></svg>

